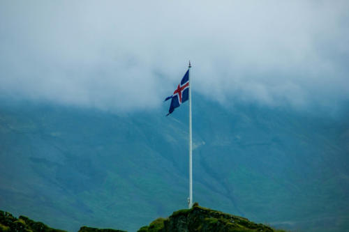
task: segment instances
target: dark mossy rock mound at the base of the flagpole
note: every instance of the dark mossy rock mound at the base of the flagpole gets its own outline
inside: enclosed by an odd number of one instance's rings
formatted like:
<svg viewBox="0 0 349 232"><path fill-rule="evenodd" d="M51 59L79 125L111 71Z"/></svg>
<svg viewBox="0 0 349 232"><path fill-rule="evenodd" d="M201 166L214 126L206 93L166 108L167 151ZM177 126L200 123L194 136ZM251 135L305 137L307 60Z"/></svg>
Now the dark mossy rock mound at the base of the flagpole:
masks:
<svg viewBox="0 0 349 232"><path fill-rule="evenodd" d="M229 215L195 204L188 210L174 212L168 219L159 218L138 232L191 232L191 231L259 231L274 232L263 224L255 224L244 217Z"/></svg>

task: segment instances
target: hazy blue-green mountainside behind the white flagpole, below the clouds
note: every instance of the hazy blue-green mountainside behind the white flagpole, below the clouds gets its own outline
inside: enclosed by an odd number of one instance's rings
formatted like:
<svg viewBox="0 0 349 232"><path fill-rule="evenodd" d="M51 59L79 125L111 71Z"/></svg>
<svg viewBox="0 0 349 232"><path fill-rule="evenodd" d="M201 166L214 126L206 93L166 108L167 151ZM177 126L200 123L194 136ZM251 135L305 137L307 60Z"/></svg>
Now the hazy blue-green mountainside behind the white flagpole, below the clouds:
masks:
<svg viewBox="0 0 349 232"><path fill-rule="evenodd" d="M137 231L187 207L186 105L115 113L0 102L0 208ZM349 226L349 121L193 95L194 201L284 229Z"/></svg>

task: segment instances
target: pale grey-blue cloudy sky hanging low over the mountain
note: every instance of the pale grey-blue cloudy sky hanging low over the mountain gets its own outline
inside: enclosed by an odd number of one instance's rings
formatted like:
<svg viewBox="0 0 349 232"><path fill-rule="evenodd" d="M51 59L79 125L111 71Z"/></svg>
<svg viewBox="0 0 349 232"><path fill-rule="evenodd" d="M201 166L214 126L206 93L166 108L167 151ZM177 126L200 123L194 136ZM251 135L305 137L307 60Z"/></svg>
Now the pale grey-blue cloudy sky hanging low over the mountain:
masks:
<svg viewBox="0 0 349 232"><path fill-rule="evenodd" d="M0 1L1 95L154 109L191 60L220 102L349 101L349 1Z"/></svg>

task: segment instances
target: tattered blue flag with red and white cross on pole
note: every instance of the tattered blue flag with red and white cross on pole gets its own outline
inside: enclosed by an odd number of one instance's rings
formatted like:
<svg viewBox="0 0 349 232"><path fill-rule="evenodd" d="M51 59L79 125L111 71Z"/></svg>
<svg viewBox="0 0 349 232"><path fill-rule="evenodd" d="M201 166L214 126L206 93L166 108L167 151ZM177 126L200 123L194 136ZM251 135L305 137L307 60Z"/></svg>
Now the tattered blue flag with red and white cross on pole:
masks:
<svg viewBox="0 0 349 232"><path fill-rule="evenodd" d="M170 109L168 110L168 116L175 108L179 107L181 103L186 102L189 99L189 70L181 79L181 84L177 86L177 89L173 92L172 96L165 99L165 101L171 100Z"/></svg>

